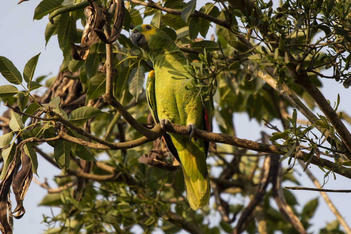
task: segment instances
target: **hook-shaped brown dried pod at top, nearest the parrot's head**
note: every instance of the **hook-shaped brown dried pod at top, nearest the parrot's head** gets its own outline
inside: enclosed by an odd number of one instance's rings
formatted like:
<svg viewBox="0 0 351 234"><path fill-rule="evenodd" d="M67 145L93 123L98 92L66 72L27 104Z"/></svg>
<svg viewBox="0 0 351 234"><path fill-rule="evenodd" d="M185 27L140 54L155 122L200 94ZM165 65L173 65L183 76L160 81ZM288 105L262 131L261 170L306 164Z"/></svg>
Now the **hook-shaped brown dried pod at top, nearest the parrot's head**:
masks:
<svg viewBox="0 0 351 234"><path fill-rule="evenodd" d="M124 22L124 16L125 16L124 2L122 0L113 0L113 2L116 3L117 6L114 14L114 24L113 24L111 36L109 38L106 38L106 35L104 32L102 32L101 30L95 30L95 33L97 33L100 40L105 44L112 44L118 39L119 34L122 31L123 22Z"/></svg>

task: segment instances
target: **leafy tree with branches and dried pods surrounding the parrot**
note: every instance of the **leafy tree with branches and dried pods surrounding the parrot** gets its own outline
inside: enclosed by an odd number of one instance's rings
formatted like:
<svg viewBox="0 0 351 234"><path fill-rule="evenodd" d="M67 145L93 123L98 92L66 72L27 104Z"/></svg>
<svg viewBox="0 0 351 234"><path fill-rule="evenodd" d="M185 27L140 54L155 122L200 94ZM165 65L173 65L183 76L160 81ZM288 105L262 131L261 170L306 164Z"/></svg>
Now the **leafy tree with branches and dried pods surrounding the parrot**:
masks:
<svg viewBox="0 0 351 234"><path fill-rule="evenodd" d="M318 200L298 208L296 193L282 187L300 185L296 163L335 213L320 233L351 232L309 169L318 166L325 182L335 174L351 179L344 123L351 118L338 112L339 98L330 103L319 90L323 79L351 85L350 1L43 0L33 19L47 15L46 44L57 35L62 51L57 76L34 75L40 53L22 74L0 56L7 80L0 86L7 107L0 118L2 233L11 234L13 218L25 215L38 156L62 171L57 188L40 183L48 192L40 205L61 210L44 216L56 225L46 233L307 233ZM210 141L210 209L190 209L183 173L147 106L152 63L130 41L131 29L144 23L185 53L211 103L216 132L195 132ZM239 112L274 133L237 138ZM187 135L177 124L166 131ZM218 222L208 218L214 216Z"/></svg>

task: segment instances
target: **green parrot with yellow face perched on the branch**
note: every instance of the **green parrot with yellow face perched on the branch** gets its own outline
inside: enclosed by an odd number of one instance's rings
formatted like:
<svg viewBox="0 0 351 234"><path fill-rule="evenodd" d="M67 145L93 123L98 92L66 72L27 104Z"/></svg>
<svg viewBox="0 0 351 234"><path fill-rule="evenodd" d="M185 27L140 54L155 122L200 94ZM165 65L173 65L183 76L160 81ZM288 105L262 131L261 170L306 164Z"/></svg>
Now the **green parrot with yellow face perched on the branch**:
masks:
<svg viewBox="0 0 351 234"><path fill-rule="evenodd" d="M153 119L164 129L168 123L187 126L188 136L165 133L167 148L180 163L186 194L193 210L210 205L210 180L206 158L209 142L194 139L196 128L210 131L210 108L206 108L198 81L187 71L187 60L173 40L153 25L138 25L131 41L151 59L154 70L146 81L146 98Z"/></svg>

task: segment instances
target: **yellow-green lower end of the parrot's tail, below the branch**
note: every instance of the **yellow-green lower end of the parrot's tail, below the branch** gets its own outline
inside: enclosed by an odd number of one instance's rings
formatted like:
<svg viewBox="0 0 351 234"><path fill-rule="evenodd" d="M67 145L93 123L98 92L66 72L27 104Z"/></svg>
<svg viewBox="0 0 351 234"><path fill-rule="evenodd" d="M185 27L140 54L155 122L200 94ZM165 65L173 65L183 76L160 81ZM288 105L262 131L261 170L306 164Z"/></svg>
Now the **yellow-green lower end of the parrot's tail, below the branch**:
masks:
<svg viewBox="0 0 351 234"><path fill-rule="evenodd" d="M183 165L182 169L185 179L186 196L188 198L190 207L193 210L197 210L198 208L207 209L210 206L211 194L210 179L208 179L207 168L205 170L205 173L200 173L196 167L197 170L192 171L191 173L193 175L197 174L198 176L191 177L188 176Z"/></svg>

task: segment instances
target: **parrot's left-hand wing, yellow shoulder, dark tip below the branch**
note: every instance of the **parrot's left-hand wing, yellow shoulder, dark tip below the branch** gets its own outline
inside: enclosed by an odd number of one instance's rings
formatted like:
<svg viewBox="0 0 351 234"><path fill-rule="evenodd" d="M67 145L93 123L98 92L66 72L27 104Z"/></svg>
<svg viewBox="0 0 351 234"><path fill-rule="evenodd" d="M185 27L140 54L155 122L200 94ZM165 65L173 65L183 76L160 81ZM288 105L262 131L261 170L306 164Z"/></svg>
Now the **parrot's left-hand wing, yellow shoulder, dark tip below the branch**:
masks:
<svg viewBox="0 0 351 234"><path fill-rule="evenodd" d="M155 71L152 70L149 72L146 80L146 100L150 107L152 117L155 123L160 123L160 120L157 116L157 106L156 106L156 97L155 97ZM179 155L176 147L174 146L171 136L168 133L163 134L162 139L165 141L167 148L171 151L174 158L177 159L179 163ZM208 143L208 142L207 142ZM207 147L208 149L208 147Z"/></svg>

